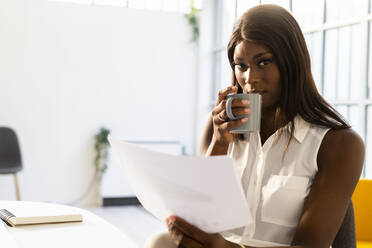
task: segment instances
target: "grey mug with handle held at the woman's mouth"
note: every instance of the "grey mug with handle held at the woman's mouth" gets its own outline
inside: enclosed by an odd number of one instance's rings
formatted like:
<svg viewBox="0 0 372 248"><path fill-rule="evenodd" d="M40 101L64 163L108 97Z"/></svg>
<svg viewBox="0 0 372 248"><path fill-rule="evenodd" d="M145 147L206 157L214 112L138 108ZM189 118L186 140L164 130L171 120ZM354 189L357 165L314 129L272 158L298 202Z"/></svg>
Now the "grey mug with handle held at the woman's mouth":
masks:
<svg viewBox="0 0 372 248"><path fill-rule="evenodd" d="M249 133L254 131L260 131L261 126L261 104L262 97L257 93L239 93L231 94L226 97L226 113L229 120L238 120L244 117L248 118L248 121L242 126L232 128L230 133ZM244 99L249 101L248 108L251 109L251 113L248 115L234 116L231 111L231 103L234 99Z"/></svg>

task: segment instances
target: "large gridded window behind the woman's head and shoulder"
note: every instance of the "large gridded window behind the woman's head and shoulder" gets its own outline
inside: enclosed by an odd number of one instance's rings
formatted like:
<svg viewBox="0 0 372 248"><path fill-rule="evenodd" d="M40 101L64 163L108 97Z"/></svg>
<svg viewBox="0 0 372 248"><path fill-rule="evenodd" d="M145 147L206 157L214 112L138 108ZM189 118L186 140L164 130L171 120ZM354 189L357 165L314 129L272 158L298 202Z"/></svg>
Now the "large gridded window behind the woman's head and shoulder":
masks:
<svg viewBox="0 0 372 248"><path fill-rule="evenodd" d="M300 24L319 92L372 149L372 0L216 1L214 93L231 84L226 46L233 24L248 8L273 3L290 10ZM233 20L233 21L232 21ZM370 127L370 128L368 128ZM363 176L372 178L372 153L366 152Z"/></svg>

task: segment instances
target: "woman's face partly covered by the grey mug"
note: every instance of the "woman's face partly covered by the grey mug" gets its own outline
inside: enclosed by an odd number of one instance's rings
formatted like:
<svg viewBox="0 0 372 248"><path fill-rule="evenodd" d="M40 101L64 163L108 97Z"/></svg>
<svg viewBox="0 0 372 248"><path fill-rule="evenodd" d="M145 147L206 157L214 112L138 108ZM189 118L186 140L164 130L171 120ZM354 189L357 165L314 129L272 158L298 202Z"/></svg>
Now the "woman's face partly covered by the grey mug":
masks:
<svg viewBox="0 0 372 248"><path fill-rule="evenodd" d="M276 108L280 98L280 72L265 45L240 42L234 50L234 73L244 93L259 93L263 108Z"/></svg>

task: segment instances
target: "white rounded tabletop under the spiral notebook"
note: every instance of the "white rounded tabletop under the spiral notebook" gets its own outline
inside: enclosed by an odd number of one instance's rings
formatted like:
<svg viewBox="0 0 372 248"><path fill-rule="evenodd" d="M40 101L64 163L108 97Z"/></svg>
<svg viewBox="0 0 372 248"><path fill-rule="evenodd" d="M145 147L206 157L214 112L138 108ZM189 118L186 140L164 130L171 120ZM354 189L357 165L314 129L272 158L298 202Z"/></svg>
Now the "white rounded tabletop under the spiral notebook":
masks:
<svg viewBox="0 0 372 248"><path fill-rule="evenodd" d="M0 201L0 209L35 209L45 212L81 213L83 222L9 227L0 220L0 246L6 248L138 248L116 227L93 213L59 204ZM6 245L5 245L6 244Z"/></svg>

